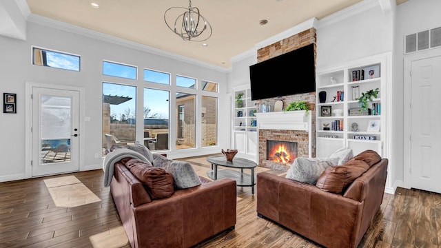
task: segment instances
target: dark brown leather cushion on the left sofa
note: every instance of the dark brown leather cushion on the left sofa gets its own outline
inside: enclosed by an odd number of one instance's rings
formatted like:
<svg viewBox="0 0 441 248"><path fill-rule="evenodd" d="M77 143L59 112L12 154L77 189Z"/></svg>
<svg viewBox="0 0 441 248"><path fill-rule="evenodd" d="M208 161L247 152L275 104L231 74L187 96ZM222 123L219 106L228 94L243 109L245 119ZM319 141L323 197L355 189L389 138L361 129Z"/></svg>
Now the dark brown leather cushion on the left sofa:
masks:
<svg viewBox="0 0 441 248"><path fill-rule="evenodd" d="M125 166L143 183L152 200L167 198L174 193L173 176L165 169L153 167L136 158L127 161Z"/></svg>

